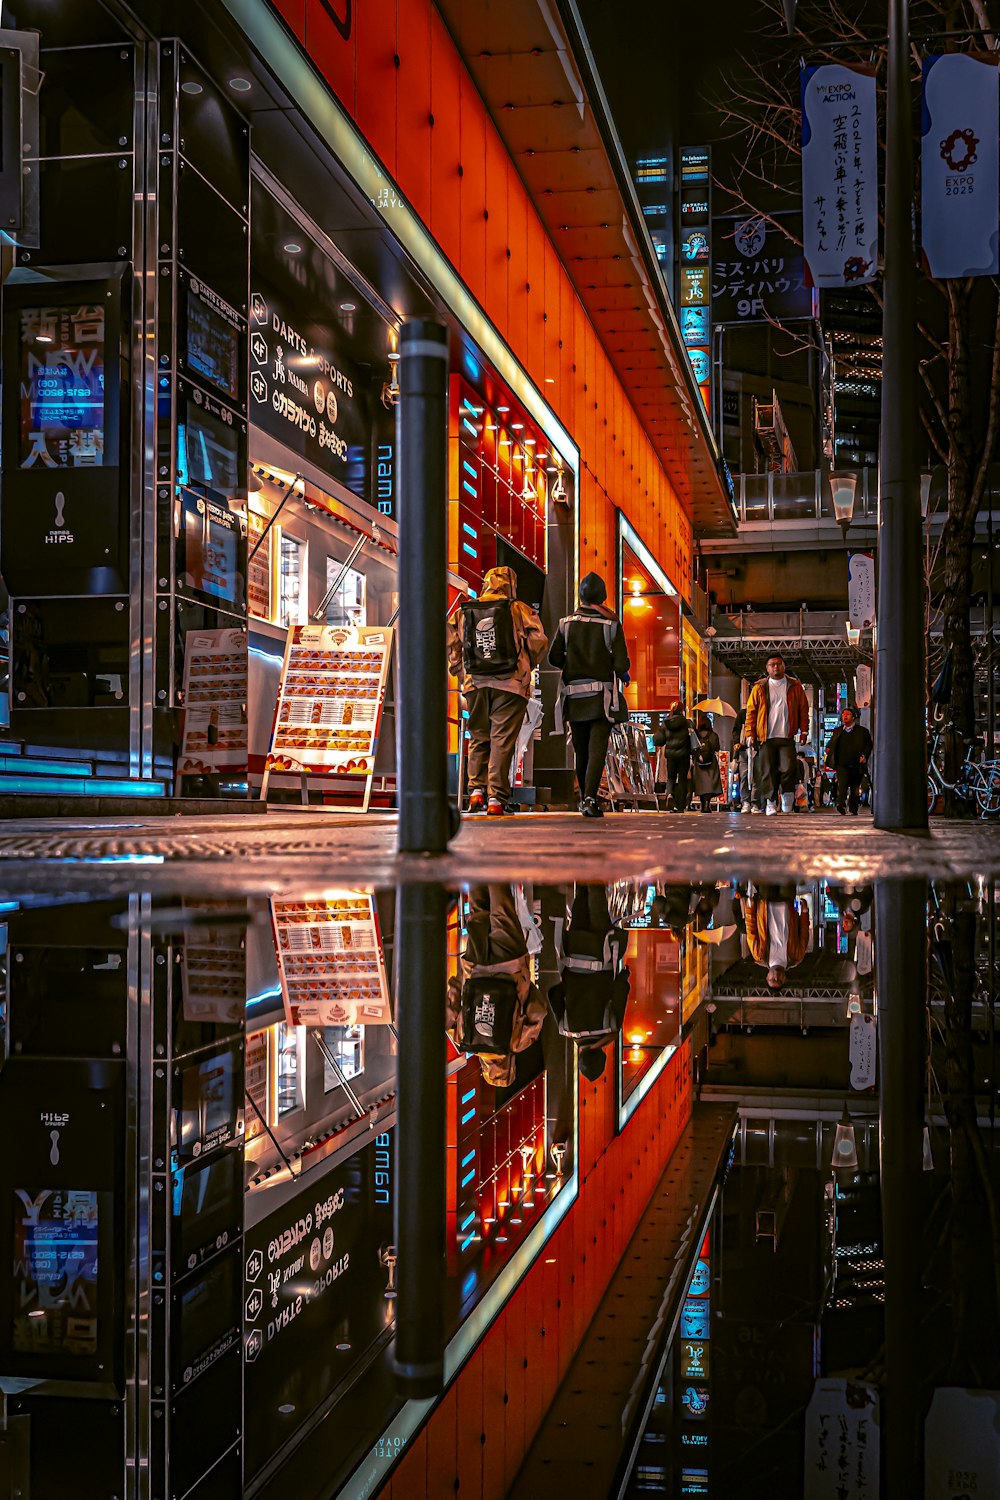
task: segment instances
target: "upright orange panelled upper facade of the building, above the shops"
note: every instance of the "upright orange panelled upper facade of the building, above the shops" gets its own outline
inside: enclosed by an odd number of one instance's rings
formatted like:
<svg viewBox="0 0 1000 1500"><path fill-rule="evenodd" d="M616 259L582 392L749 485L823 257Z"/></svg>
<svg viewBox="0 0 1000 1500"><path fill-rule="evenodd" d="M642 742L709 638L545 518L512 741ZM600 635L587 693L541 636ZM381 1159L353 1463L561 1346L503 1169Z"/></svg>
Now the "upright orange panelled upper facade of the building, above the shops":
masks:
<svg viewBox="0 0 1000 1500"><path fill-rule="evenodd" d="M432 0L274 4L577 442L580 573L613 596L618 506L687 597L690 516Z"/></svg>

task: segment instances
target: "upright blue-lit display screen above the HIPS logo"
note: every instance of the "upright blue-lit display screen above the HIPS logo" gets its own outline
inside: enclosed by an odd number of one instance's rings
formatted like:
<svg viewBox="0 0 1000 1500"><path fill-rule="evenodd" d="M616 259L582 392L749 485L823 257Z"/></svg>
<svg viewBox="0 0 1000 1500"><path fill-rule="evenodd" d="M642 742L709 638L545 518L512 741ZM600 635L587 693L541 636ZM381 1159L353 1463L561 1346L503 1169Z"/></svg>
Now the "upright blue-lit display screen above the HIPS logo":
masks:
<svg viewBox="0 0 1000 1500"><path fill-rule="evenodd" d="M105 462L105 309L22 308L21 468Z"/></svg>

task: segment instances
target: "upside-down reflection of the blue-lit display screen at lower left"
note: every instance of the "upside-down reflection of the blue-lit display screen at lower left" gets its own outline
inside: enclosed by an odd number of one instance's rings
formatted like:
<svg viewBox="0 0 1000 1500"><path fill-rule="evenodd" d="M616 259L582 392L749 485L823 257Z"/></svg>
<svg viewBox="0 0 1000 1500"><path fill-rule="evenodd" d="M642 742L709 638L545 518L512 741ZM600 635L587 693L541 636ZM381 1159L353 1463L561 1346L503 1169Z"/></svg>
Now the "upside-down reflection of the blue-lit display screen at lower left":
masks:
<svg viewBox="0 0 1000 1500"><path fill-rule="evenodd" d="M97 1353L97 1230L102 1194L13 1191L13 1348Z"/></svg>

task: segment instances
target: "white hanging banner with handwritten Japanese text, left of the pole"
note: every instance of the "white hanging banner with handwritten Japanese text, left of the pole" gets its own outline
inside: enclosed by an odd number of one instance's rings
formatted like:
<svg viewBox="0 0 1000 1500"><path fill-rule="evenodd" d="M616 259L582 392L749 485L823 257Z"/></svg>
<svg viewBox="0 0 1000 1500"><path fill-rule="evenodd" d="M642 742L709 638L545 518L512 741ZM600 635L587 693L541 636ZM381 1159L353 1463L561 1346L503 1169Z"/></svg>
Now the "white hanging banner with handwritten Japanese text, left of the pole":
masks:
<svg viewBox="0 0 1000 1500"><path fill-rule="evenodd" d="M879 274L876 76L849 63L804 68L802 244L814 286Z"/></svg>

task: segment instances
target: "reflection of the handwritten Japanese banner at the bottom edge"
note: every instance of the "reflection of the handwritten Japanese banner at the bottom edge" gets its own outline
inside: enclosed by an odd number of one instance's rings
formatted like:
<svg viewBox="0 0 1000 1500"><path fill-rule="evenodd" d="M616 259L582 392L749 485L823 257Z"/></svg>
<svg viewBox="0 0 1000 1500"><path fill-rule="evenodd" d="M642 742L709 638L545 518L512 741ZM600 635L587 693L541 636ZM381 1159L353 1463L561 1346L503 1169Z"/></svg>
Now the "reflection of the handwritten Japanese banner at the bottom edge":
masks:
<svg viewBox="0 0 1000 1500"><path fill-rule="evenodd" d="M879 1394L817 1380L805 1413L805 1500L879 1500Z"/></svg>

